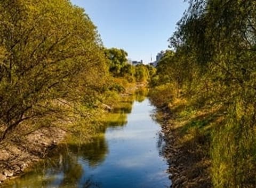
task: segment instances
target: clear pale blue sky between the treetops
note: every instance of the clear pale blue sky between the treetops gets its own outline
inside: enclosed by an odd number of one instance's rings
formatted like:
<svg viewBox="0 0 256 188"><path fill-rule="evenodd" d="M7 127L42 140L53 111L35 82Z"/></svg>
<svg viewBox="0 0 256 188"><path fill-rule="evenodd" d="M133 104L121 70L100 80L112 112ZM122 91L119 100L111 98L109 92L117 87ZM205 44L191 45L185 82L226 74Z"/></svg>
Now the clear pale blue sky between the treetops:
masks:
<svg viewBox="0 0 256 188"><path fill-rule="evenodd" d="M129 58L144 63L167 49L167 39L188 6L183 1L71 0L89 14L106 47L122 48Z"/></svg>

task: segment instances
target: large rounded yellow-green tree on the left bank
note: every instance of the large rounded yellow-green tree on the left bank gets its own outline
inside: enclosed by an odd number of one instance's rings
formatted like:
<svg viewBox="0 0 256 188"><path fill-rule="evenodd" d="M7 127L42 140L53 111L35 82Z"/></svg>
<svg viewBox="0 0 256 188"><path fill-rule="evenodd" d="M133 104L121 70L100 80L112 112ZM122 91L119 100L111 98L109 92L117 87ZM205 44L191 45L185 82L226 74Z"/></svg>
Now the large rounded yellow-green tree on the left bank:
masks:
<svg viewBox="0 0 256 188"><path fill-rule="evenodd" d="M0 140L55 99L99 91L105 58L97 30L66 0L0 2Z"/></svg>

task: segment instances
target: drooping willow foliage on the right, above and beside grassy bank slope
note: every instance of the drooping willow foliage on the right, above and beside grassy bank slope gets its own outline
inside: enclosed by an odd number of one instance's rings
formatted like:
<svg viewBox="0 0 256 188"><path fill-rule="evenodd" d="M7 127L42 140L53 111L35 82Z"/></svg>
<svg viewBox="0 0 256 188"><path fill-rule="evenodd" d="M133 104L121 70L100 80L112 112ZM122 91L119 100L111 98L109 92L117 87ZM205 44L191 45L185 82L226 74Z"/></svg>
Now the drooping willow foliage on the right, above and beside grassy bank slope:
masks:
<svg viewBox="0 0 256 188"><path fill-rule="evenodd" d="M173 52L164 55L151 79L162 93L160 104L173 96L165 99L166 90L159 88L172 84L174 96L194 108L221 106L223 121L216 122L210 149L215 187L254 187L256 182L255 7L253 0L189 1L169 39Z"/></svg>

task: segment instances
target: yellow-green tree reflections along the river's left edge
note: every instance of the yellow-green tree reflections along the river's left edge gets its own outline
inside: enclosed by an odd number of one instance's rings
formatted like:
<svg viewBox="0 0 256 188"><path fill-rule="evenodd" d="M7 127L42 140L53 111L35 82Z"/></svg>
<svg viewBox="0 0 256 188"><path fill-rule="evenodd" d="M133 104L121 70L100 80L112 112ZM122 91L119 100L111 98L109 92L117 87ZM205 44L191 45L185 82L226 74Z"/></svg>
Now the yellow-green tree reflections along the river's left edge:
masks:
<svg viewBox="0 0 256 188"><path fill-rule="evenodd" d="M122 101L122 107L115 108L106 119L101 122L104 126L99 134L93 136L89 143L71 138L61 144L49 158L39 162L33 170L15 179L6 187L100 187L100 183L86 176L81 163L85 161L90 167L103 163L108 155L108 144L105 132L108 127L122 127L127 124L127 114L131 113L134 96Z"/></svg>

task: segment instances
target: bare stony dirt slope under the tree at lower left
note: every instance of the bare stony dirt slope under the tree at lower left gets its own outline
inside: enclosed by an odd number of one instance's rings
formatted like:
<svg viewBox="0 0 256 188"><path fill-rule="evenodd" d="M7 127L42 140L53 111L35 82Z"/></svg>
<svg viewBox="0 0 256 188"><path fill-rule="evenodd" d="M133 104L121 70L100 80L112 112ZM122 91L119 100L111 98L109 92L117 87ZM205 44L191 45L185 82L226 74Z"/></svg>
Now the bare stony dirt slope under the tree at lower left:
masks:
<svg viewBox="0 0 256 188"><path fill-rule="evenodd" d="M0 184L21 175L35 162L43 159L65 138L66 132L57 127L43 127L24 138L0 143ZM1 185L0 185L1 186Z"/></svg>

